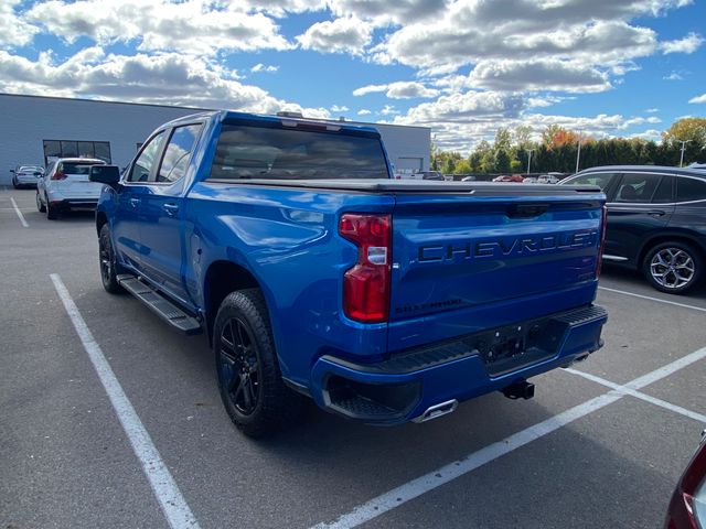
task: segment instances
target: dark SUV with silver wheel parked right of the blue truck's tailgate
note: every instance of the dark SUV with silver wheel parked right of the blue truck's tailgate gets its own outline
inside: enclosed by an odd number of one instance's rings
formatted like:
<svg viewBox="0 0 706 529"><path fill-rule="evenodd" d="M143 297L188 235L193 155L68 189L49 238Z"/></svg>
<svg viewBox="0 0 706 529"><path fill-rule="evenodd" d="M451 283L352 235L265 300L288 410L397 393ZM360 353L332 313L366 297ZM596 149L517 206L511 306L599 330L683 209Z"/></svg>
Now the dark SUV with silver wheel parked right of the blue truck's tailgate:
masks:
<svg viewBox="0 0 706 529"><path fill-rule="evenodd" d="M608 197L603 260L642 270L652 287L681 294L706 263L706 173L655 165L592 168L563 184L599 185Z"/></svg>

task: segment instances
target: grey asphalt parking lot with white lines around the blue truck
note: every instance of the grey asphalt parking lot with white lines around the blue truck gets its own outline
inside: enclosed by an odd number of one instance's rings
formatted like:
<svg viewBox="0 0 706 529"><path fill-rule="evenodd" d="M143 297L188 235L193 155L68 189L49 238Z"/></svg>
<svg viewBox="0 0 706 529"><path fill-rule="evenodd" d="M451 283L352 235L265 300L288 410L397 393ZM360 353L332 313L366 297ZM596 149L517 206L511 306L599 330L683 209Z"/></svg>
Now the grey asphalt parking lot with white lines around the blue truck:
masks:
<svg viewBox="0 0 706 529"><path fill-rule="evenodd" d="M605 270L606 346L533 400L392 429L312 407L254 442L206 338L103 290L92 214L50 222L34 191L0 190L0 256L4 529L661 527L706 428L706 284L670 296Z"/></svg>

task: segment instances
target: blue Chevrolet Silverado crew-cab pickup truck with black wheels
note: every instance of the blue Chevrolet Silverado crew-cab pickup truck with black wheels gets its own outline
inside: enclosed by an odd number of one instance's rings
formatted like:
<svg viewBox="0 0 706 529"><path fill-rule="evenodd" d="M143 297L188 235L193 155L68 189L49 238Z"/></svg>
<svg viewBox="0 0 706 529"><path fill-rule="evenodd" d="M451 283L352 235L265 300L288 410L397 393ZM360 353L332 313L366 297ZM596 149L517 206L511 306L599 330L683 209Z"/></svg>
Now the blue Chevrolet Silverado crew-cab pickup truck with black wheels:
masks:
<svg viewBox="0 0 706 529"><path fill-rule="evenodd" d="M396 181L374 128L239 112L158 128L94 166L100 273L205 333L247 435L307 398L422 422L601 347L606 226L592 186Z"/></svg>

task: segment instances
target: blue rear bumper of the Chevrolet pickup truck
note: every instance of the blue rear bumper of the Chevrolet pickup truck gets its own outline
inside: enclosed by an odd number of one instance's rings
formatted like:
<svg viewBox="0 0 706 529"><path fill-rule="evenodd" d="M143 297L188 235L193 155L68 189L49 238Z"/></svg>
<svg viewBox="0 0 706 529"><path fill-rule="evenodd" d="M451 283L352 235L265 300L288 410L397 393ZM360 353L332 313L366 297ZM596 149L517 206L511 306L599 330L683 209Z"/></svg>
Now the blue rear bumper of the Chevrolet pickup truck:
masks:
<svg viewBox="0 0 706 529"><path fill-rule="evenodd" d="M322 356L311 393L334 413L397 424L450 400L468 400L584 358L602 346L598 305L517 322L393 354L377 364Z"/></svg>

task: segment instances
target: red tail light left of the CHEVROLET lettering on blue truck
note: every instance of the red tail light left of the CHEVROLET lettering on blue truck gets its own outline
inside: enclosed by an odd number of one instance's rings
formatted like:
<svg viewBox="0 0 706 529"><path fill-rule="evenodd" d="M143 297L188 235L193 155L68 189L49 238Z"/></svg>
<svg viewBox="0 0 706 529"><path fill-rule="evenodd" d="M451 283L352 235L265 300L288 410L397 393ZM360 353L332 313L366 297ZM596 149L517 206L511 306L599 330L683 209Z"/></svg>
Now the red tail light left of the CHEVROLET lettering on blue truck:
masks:
<svg viewBox="0 0 706 529"><path fill-rule="evenodd" d="M346 213L339 234L357 246L357 262L343 277L343 311L363 323L387 321L392 220L389 215Z"/></svg>

